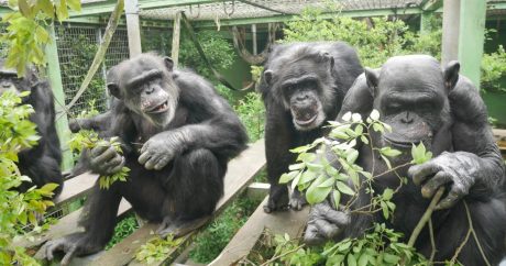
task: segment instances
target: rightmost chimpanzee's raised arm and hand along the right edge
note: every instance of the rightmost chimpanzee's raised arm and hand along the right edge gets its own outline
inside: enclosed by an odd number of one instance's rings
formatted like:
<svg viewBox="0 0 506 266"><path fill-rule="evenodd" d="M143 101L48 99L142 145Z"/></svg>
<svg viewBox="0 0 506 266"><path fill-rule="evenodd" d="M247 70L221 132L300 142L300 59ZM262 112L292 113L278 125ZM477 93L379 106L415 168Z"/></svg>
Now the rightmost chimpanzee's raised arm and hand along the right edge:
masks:
<svg viewBox="0 0 506 266"><path fill-rule="evenodd" d="M451 129L454 152L442 153L409 169L416 184L436 175L424 185L426 197L431 197L441 184L453 182L437 209L450 208L468 195L487 199L504 182L504 163L477 89L460 76L449 100L454 121Z"/></svg>

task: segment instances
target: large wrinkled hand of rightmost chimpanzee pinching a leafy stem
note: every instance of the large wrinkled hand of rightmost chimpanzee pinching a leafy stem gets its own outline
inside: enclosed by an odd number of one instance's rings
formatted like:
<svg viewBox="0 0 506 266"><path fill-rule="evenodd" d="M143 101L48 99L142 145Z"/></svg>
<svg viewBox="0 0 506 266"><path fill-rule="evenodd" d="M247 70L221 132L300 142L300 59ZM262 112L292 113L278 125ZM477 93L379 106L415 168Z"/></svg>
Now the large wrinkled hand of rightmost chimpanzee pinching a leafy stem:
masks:
<svg viewBox="0 0 506 266"><path fill-rule="evenodd" d="M444 152L436 158L409 168L408 175L416 185L424 184L421 195L432 198L439 187L452 182L448 196L442 199L437 210L454 206L469 193L480 175L480 158L466 152Z"/></svg>

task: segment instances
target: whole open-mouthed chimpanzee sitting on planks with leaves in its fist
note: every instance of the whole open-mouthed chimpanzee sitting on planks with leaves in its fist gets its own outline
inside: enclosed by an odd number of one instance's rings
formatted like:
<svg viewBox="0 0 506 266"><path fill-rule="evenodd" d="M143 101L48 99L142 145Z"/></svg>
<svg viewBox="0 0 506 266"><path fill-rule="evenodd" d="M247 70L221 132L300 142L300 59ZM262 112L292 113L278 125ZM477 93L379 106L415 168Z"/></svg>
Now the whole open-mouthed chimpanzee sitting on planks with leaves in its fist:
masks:
<svg viewBox="0 0 506 266"><path fill-rule="evenodd" d="M142 54L116 71L118 82L108 84L119 99L110 132L124 143L124 154L95 147L90 166L100 175L123 165L131 171L127 181L109 189L96 184L81 220L85 232L46 245L50 259L57 251L66 253L62 264L103 248L121 197L142 218L162 222L162 235L199 226L223 193L229 159L246 146L244 126L227 101L200 76L173 70L170 58Z"/></svg>

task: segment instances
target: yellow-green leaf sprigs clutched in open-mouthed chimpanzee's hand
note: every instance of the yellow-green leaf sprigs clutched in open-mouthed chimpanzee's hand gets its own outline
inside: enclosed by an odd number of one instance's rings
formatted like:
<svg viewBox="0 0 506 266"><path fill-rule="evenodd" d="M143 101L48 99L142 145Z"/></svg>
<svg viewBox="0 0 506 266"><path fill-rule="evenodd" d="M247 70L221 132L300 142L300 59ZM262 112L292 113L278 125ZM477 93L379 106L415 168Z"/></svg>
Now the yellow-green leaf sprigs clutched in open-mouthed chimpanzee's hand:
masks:
<svg viewBox="0 0 506 266"><path fill-rule="evenodd" d="M121 143L117 137L111 137L109 141L101 140L95 131L85 131L81 130L78 133L74 134L70 141L68 142L68 147L73 152L81 153L84 148L91 149L97 146L112 146L114 149L122 154ZM109 189L109 187L116 181L127 181L129 176L130 168L123 166L120 171L111 176L100 176L99 185L101 189Z"/></svg>

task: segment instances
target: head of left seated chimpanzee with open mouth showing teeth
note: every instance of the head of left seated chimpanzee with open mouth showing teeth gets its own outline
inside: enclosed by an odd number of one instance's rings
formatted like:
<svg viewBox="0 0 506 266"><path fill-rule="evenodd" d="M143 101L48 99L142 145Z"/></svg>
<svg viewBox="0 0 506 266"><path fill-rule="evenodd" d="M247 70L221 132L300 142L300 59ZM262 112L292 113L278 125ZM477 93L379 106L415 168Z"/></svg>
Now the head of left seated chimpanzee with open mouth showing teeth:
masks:
<svg viewBox="0 0 506 266"><path fill-rule="evenodd" d="M108 80L108 88L130 110L163 128L174 119L179 96L172 70L170 58L144 54L114 67L108 76L117 80Z"/></svg>

